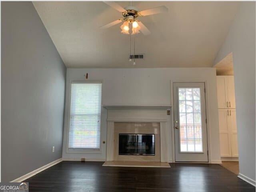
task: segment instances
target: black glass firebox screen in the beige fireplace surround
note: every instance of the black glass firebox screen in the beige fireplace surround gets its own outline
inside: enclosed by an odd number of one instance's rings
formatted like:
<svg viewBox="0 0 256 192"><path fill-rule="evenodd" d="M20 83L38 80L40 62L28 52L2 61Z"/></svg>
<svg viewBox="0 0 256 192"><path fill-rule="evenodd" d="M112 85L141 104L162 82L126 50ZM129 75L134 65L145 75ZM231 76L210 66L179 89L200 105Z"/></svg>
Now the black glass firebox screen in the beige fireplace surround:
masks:
<svg viewBox="0 0 256 192"><path fill-rule="evenodd" d="M119 155L155 155L155 135L119 134Z"/></svg>

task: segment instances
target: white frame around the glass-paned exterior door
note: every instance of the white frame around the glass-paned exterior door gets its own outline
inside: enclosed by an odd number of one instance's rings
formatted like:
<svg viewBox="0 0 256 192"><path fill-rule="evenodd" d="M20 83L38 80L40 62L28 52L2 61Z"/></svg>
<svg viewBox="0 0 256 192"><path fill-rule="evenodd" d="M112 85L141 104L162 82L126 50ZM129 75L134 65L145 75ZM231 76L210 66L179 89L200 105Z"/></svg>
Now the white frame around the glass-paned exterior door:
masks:
<svg viewBox="0 0 256 192"><path fill-rule="evenodd" d="M209 106L208 106L208 83L207 80L198 80L198 81L182 81L182 80L171 80L171 106L172 106L172 116L171 116L171 134L172 134L172 162L176 163L176 156L175 156L175 138L174 138L174 92L173 92L173 84L174 83L204 83L205 88L205 110L206 110L206 134L207 134L207 148L208 148L208 162L195 162L195 163L212 163L211 159L211 148L210 148L210 116L209 113ZM182 162L177 162L182 163ZM193 163L193 162L189 162Z"/></svg>

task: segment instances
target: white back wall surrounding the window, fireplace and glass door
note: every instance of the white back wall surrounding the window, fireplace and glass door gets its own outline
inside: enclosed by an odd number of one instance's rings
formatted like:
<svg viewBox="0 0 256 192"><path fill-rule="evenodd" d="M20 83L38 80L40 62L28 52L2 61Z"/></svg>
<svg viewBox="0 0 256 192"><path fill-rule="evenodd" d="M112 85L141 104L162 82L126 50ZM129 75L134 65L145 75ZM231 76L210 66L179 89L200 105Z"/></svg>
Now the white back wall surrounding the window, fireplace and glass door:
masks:
<svg viewBox="0 0 256 192"><path fill-rule="evenodd" d="M106 159L106 144L102 145L101 154L68 154L67 120L70 81L102 80L102 105L172 105L172 82L206 82L208 131L210 138L209 153L212 162L220 161L218 105L215 68L144 68L144 69L67 69L66 105L64 122L63 158L85 157L91 160ZM168 122L170 139L168 140L168 159L172 161L173 128L170 116ZM102 108L102 140L106 141L107 111Z"/></svg>

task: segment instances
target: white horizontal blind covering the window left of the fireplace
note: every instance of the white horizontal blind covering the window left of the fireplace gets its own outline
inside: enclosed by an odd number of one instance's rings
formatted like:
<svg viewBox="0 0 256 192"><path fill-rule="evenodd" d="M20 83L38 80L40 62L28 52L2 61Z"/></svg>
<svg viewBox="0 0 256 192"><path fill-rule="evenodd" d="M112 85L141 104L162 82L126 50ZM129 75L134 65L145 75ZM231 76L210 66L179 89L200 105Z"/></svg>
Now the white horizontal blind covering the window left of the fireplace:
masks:
<svg viewBox="0 0 256 192"><path fill-rule="evenodd" d="M69 149L100 148L101 83L72 82Z"/></svg>

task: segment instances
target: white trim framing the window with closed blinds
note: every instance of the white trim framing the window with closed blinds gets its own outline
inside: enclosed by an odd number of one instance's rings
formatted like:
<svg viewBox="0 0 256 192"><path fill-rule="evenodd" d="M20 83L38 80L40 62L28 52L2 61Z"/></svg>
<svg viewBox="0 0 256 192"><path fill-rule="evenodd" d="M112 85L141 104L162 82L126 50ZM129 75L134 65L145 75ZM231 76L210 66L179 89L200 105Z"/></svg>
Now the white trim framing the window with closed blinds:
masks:
<svg viewBox="0 0 256 192"><path fill-rule="evenodd" d="M99 149L70 149L68 147L69 143L69 128L70 128L70 104L71 104L71 84L72 83L101 83L101 87L103 86L103 80L86 80L86 81L72 81L70 80L68 86L68 120L67 120L67 136L66 136L66 153L68 154L101 154L102 153L102 88L101 88L101 111L100 111L100 148Z"/></svg>

